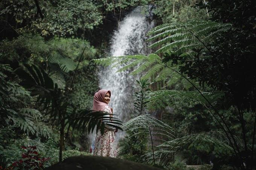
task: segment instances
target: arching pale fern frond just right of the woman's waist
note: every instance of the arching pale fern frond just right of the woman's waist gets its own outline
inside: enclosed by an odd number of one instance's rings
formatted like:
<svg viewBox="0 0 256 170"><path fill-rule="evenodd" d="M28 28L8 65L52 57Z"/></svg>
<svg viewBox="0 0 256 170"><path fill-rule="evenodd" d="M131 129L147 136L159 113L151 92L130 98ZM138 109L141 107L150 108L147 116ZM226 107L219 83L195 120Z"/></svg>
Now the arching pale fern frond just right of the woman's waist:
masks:
<svg viewBox="0 0 256 170"><path fill-rule="evenodd" d="M146 115L137 116L128 122L123 123L122 128L126 131L134 131L135 129L138 129L139 131L134 133L134 135L139 135L140 133L149 134L151 131L151 135L157 137L154 140L160 139L166 141L168 138L175 137L171 126L161 120Z"/></svg>

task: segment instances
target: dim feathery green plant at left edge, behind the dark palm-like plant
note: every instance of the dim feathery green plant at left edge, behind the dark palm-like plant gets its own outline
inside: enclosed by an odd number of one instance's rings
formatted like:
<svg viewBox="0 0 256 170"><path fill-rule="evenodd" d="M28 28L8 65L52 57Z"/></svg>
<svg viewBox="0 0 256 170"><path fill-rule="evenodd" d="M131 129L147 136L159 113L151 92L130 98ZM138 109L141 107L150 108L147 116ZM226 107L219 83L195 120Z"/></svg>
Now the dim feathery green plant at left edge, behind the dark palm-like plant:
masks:
<svg viewBox="0 0 256 170"><path fill-rule="evenodd" d="M6 80L12 68L1 64L1 117L2 125L18 125L27 134L49 137L52 132L39 110L25 107L33 101L29 91L12 81ZM12 105L12 107L11 107ZM14 107L15 106L15 107Z"/></svg>

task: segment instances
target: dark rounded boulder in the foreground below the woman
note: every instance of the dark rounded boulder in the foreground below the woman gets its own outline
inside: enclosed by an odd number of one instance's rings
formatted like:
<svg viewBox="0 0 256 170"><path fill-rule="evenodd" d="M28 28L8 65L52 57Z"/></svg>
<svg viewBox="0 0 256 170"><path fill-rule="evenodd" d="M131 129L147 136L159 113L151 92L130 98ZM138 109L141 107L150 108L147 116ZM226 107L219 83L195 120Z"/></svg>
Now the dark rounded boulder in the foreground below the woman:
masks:
<svg viewBox="0 0 256 170"><path fill-rule="evenodd" d="M72 156L45 170L161 170L149 165L102 156Z"/></svg>

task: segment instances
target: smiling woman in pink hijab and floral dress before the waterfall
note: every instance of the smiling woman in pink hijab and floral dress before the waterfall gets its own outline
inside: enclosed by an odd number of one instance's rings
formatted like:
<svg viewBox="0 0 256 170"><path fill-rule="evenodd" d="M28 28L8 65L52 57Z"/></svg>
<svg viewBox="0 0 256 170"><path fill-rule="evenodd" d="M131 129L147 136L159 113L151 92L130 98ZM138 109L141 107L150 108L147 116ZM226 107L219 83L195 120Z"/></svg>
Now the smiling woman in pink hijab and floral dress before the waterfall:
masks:
<svg viewBox="0 0 256 170"><path fill-rule="evenodd" d="M113 114L113 109L108 106L110 102L111 92L110 90L99 90L94 94L93 110L104 111ZM112 117L112 115L110 115ZM98 130L93 155L95 156L110 156L115 158L115 132L116 128L105 125L104 134L101 135L101 131Z"/></svg>

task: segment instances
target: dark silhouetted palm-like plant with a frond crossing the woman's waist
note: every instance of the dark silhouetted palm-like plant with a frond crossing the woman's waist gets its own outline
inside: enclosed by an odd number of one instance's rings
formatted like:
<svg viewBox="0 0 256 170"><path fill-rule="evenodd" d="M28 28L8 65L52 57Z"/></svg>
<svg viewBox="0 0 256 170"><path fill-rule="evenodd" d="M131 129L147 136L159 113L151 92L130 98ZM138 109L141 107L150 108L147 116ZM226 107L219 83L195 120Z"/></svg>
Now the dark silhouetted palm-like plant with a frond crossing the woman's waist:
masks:
<svg viewBox="0 0 256 170"><path fill-rule="evenodd" d="M97 126L103 133L105 124L111 122L114 124L111 126L121 129L119 126L115 125L121 125L120 120L117 118L111 118L110 120L110 118L106 116L108 113L76 110L68 100L69 93L67 92L72 88L72 84L65 93L63 90L59 89L56 84L53 84L53 80L43 69L35 65L29 66L27 64L24 64L24 67L25 68L20 67L15 70L15 73L23 79L21 84L31 90L32 95L37 96L37 101L44 106L43 108L46 110L46 114L49 114L50 118L56 121L57 125L60 125L59 161L62 161L64 129L67 125L69 126L68 130L72 126L78 129L88 128L89 132ZM77 68L78 66L76 66L76 69Z"/></svg>

